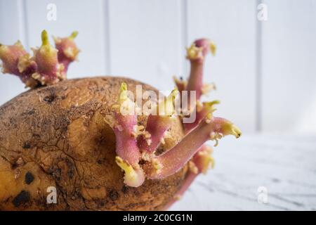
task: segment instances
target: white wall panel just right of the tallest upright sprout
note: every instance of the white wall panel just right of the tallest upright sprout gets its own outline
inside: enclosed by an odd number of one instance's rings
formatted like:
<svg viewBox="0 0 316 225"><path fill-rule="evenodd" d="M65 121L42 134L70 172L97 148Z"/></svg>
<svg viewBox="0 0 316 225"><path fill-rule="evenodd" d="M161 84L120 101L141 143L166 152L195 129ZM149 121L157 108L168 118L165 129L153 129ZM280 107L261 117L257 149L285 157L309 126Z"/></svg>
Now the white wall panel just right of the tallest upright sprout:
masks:
<svg viewBox="0 0 316 225"><path fill-rule="evenodd" d="M204 81L215 82L218 112L242 131L256 127L256 1L188 0L188 41L209 37L218 51L206 59ZM187 43L189 44L189 43ZM208 98L208 99L210 99Z"/></svg>

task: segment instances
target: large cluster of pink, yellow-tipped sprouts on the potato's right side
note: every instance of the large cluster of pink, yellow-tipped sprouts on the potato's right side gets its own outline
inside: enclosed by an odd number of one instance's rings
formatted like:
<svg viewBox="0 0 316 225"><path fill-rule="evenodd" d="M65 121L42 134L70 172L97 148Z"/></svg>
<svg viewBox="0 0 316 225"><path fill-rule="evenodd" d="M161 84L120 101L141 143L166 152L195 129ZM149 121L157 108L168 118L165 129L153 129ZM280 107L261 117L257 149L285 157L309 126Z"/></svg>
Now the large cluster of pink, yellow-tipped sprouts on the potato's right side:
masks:
<svg viewBox="0 0 316 225"><path fill-rule="evenodd" d="M209 39L199 39L187 49L187 59L191 63L190 77L187 81L176 79L176 89L157 103L154 113L148 115L145 126L138 125L138 106L129 98L127 84L122 83L117 102L112 105L112 115L105 120L110 124L116 136L116 162L124 170L124 182L127 186L138 187L145 179L164 179L183 168L187 162L189 172L179 194L191 184L197 174L205 173L213 166L212 148L204 145L206 141L216 141L226 135L239 138L241 131L232 122L220 117L213 117L213 105L218 101L202 103L200 98L214 88L204 85L203 67L206 54L215 53L216 46ZM157 155L156 150L164 139L169 136L168 130L175 120L174 101L179 92L195 91L195 98L189 98L189 116L195 113L195 121L185 123L186 114L181 114L184 138L173 148ZM193 107L192 107L193 105ZM156 110L165 109L163 115ZM129 114L123 112L130 112ZM141 163L140 163L141 162Z"/></svg>

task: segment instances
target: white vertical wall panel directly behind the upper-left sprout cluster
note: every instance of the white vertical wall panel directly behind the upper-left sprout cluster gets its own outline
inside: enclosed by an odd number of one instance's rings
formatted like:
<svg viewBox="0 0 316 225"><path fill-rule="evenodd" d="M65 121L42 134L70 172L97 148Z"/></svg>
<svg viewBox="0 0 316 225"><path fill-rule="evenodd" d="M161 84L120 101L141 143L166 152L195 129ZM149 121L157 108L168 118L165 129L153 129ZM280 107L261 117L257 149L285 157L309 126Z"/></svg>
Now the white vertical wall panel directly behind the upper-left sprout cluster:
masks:
<svg viewBox="0 0 316 225"><path fill-rule="evenodd" d="M48 4L57 6L57 20L47 20ZM28 0L29 46L41 44L41 30L59 37L78 30L79 62L70 65L69 78L105 75L105 21L103 1ZM51 41L53 41L51 39Z"/></svg>

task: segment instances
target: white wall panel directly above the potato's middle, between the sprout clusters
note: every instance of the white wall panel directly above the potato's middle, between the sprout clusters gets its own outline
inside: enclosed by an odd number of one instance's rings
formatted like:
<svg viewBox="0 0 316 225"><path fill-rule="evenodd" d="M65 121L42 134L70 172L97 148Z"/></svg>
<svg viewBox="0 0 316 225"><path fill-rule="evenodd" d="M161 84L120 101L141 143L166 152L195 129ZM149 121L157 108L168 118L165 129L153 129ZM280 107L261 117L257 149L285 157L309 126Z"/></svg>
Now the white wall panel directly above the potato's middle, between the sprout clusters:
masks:
<svg viewBox="0 0 316 225"><path fill-rule="evenodd" d="M180 1L110 0L113 75L171 89L183 70Z"/></svg>

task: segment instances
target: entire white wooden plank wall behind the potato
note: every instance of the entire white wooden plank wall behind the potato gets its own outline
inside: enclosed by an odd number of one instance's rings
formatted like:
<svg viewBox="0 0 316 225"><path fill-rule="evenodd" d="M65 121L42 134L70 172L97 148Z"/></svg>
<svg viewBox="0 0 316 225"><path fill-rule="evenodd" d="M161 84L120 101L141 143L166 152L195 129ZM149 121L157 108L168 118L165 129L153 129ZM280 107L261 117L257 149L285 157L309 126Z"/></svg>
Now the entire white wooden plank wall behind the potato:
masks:
<svg viewBox="0 0 316 225"><path fill-rule="evenodd" d="M56 21L46 20L51 3ZM209 98L246 133L316 134L315 28L313 0L0 0L3 44L20 39L29 49L43 29L79 31L70 78L124 75L168 90L172 75L187 76L185 46L210 37L218 54L207 58L205 81L218 91ZM16 77L0 75L0 104L22 91Z"/></svg>

